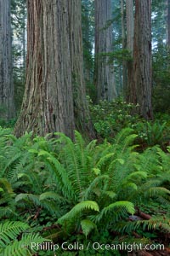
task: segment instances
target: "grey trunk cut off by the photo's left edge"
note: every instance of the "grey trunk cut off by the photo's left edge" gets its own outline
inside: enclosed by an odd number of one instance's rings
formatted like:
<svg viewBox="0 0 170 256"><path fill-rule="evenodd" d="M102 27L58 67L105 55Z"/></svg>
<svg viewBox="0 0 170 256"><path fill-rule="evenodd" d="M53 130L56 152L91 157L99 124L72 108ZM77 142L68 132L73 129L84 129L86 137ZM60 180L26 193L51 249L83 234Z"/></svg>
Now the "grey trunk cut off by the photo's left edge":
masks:
<svg viewBox="0 0 170 256"><path fill-rule="evenodd" d="M10 0L0 0L0 118L14 117Z"/></svg>

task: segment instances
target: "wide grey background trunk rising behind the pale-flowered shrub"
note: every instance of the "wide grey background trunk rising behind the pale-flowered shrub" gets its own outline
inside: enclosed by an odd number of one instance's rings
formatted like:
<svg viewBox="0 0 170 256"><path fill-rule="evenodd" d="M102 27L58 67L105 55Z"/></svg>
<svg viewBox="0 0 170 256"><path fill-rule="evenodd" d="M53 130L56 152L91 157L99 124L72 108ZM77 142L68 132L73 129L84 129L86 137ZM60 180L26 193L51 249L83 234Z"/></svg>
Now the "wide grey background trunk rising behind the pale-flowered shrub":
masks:
<svg viewBox="0 0 170 256"><path fill-rule="evenodd" d="M111 101L116 98L116 86L113 64L102 53L112 51L111 0L95 0L95 78L97 101Z"/></svg>

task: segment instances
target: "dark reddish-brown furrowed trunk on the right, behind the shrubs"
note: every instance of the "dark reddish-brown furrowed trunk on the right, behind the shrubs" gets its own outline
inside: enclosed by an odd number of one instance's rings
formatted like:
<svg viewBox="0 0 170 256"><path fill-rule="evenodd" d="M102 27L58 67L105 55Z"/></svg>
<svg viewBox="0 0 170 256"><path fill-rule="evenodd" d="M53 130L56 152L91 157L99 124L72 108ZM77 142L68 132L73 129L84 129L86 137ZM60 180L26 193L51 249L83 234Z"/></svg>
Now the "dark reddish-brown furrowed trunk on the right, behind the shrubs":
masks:
<svg viewBox="0 0 170 256"><path fill-rule="evenodd" d="M130 102L139 104L144 119L152 119L151 105L151 0L136 0L133 83Z"/></svg>

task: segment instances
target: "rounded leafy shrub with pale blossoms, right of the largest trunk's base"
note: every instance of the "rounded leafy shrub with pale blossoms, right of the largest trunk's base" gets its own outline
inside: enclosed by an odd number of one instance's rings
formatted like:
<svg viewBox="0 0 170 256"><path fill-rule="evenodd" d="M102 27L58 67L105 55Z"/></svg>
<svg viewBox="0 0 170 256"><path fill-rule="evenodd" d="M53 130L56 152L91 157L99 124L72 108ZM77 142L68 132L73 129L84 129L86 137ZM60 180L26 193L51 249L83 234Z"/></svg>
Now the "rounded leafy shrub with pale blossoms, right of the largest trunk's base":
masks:
<svg viewBox="0 0 170 256"><path fill-rule="evenodd" d="M138 107L123 102L122 98L113 102L99 102L99 105L90 102L92 120L99 136L112 141L118 131L136 124L139 116L132 115L134 108Z"/></svg>

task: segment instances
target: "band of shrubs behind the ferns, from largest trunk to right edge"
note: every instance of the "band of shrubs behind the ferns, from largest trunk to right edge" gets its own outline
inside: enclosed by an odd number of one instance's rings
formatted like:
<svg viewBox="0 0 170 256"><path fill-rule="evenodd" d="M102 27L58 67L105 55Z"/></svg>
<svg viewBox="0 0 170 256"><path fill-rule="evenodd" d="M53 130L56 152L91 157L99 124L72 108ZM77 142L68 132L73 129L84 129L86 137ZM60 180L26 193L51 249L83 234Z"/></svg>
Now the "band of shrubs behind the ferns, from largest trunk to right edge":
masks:
<svg viewBox="0 0 170 256"><path fill-rule="evenodd" d="M88 101L90 102L89 99ZM135 108L138 106L122 102L121 98L113 102L100 102L99 105L94 106L90 102L92 119L98 136L113 142L117 132L122 128L131 127L138 135L135 143L139 144L139 149L160 145L166 150L170 141L169 116L161 114L160 118L157 114L156 120L149 122L139 115L132 114Z"/></svg>

